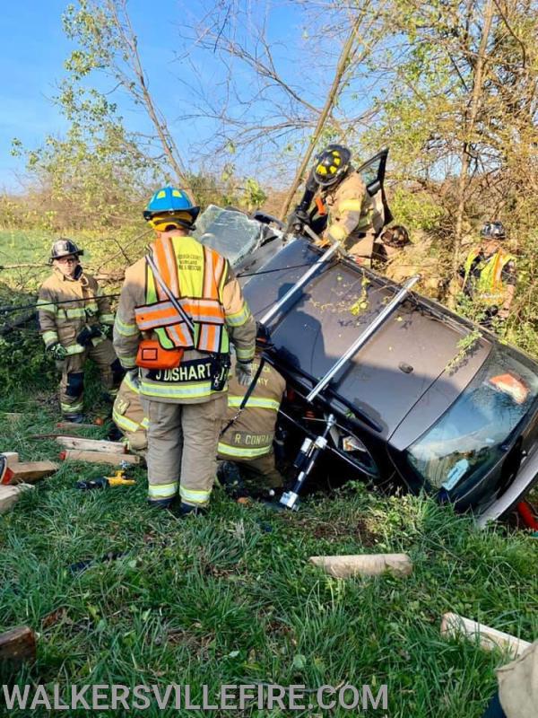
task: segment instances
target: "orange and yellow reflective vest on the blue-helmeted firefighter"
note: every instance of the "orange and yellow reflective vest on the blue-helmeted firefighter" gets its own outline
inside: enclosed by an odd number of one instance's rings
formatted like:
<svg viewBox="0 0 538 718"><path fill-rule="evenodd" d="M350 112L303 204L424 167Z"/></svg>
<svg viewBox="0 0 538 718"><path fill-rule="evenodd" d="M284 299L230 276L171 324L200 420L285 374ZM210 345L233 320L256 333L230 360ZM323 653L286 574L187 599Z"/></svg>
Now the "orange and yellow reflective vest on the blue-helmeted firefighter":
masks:
<svg viewBox="0 0 538 718"><path fill-rule="evenodd" d="M227 354L230 343L221 301L226 260L192 237L164 237L153 246L153 260L184 315L169 301L146 263L146 304L135 309L138 328L155 332L163 349Z"/></svg>

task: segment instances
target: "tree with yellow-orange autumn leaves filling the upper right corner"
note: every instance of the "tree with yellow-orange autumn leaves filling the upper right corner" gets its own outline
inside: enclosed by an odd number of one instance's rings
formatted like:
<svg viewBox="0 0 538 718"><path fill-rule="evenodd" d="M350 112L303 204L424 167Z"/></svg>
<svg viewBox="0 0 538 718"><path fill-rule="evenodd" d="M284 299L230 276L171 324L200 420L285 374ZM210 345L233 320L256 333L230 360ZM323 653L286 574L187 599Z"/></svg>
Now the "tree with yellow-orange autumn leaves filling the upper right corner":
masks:
<svg viewBox="0 0 538 718"><path fill-rule="evenodd" d="M528 193L538 142L532 5L398 0L387 9L395 37L372 69L383 83L362 142L382 138L391 147L392 176L438 198L450 218L452 275L473 223L499 218L509 226L517 217L525 232L522 208L528 216L530 206L538 209Z"/></svg>

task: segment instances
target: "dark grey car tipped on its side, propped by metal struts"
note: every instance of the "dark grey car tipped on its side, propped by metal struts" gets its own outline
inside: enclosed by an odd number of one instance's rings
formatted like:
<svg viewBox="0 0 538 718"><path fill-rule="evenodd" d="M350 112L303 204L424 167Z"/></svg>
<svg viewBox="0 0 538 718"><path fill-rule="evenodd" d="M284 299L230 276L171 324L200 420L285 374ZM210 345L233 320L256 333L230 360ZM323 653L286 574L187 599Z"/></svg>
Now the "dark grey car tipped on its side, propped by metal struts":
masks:
<svg viewBox="0 0 538 718"><path fill-rule="evenodd" d="M299 479L281 503L297 507L320 453L334 474L426 490L482 524L534 486L538 364L529 356L412 292L413 279L396 285L334 247L285 241L270 217L219 213L209 239L227 254L214 230L231 223L232 264L271 332L266 359L289 387L280 425Z"/></svg>

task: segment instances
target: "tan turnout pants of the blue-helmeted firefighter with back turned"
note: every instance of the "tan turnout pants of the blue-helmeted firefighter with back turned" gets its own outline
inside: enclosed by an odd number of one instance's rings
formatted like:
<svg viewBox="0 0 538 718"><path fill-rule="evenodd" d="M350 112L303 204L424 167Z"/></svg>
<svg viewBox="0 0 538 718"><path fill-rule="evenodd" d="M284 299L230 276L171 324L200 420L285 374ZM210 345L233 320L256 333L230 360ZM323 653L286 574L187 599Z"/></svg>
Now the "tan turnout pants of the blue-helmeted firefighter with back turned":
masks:
<svg viewBox="0 0 538 718"><path fill-rule="evenodd" d="M217 444L227 394L202 404L171 404L141 397L148 428L148 500L167 506L209 502L217 469Z"/></svg>

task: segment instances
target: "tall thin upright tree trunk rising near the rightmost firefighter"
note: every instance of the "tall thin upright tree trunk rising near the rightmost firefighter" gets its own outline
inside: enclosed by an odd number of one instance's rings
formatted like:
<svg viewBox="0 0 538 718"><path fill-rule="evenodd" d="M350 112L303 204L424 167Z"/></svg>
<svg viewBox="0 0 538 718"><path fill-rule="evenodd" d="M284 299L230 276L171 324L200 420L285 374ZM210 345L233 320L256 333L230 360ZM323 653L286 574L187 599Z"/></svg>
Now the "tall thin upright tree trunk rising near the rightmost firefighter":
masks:
<svg viewBox="0 0 538 718"><path fill-rule="evenodd" d="M476 66L474 67L473 94L471 96L471 104L468 110L468 119L465 122L464 143L462 144L462 151L460 154L460 161L462 166L457 186L456 228L454 233L454 245L452 248L451 263L453 277L457 276L457 269L459 267L460 253L462 247L465 199L469 180L470 146L473 142L474 127L476 125L476 118L478 116L478 110L480 109L481 104L484 66L487 59L486 53L488 48L488 39L490 37L491 24L493 22L493 3L494 0L487 0L487 4L484 9L484 26L482 29L482 38L480 40L478 57L476 58ZM455 288L450 291L448 297L448 305L451 308L454 308L456 303L455 284L454 287Z"/></svg>

